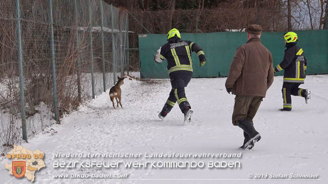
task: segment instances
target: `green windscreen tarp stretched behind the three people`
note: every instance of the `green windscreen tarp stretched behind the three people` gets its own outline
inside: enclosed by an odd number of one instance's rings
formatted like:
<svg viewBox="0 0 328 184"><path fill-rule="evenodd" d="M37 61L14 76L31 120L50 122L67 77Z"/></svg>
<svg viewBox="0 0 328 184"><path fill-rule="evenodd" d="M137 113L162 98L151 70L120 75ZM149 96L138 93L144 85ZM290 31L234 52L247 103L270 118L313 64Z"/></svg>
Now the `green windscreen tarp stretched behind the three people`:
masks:
<svg viewBox="0 0 328 184"><path fill-rule="evenodd" d="M327 58L327 30L296 31L297 45L304 50L308 60L306 74L328 74ZM284 55L283 32L263 32L262 44L269 49L273 56L273 65L279 64ZM140 34L140 76L141 78L169 78L167 61L156 63L156 51L167 43L166 34ZM228 76L230 64L236 49L247 42L245 32L217 32L217 33L182 33L182 40L197 43L206 55L206 65L199 67L196 53L192 53L193 77L220 77ZM277 73L282 75L283 72Z"/></svg>

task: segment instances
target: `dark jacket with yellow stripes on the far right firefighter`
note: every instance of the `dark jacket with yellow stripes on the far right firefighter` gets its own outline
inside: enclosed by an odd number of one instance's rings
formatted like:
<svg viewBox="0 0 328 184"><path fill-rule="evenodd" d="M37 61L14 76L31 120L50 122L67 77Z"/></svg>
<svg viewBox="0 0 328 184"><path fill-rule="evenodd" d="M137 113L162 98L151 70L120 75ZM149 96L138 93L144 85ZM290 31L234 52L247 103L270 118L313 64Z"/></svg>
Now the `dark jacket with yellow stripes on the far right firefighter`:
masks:
<svg viewBox="0 0 328 184"><path fill-rule="evenodd" d="M286 44L285 55L280 64L275 67L275 72L284 70L283 82L304 83L306 71L306 58L296 42Z"/></svg>

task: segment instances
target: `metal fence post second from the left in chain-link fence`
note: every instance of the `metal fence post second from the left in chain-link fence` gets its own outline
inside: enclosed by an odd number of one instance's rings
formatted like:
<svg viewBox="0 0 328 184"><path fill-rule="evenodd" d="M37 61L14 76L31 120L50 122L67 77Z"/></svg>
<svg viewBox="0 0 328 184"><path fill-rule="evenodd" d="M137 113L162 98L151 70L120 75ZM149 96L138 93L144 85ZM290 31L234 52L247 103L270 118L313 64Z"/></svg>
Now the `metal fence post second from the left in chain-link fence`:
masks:
<svg viewBox="0 0 328 184"><path fill-rule="evenodd" d="M56 63L55 63L55 47L53 40L53 19L52 19L52 0L49 0L49 14L50 14L50 37L51 37L51 63L52 63L52 84L53 84L53 106L55 111L55 120L58 121L57 109L57 84L56 84Z"/></svg>

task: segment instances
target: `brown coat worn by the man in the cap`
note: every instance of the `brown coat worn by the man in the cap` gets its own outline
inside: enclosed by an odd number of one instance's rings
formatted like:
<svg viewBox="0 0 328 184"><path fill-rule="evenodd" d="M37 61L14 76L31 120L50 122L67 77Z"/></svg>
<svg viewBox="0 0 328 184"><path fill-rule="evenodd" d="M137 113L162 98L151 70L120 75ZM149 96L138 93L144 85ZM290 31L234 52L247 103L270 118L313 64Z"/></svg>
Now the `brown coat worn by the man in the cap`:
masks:
<svg viewBox="0 0 328 184"><path fill-rule="evenodd" d="M232 87L234 95L265 97L273 76L270 51L259 38L251 38L236 50L226 88Z"/></svg>

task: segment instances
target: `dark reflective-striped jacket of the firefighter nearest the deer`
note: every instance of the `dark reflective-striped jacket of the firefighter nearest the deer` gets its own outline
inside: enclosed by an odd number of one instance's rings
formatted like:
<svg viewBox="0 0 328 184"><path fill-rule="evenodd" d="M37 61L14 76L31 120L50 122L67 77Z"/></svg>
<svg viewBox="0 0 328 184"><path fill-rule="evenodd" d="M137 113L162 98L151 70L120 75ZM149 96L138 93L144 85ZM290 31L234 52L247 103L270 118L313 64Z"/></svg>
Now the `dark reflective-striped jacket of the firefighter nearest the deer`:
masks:
<svg viewBox="0 0 328 184"><path fill-rule="evenodd" d="M199 61L206 59L203 50L196 43L181 40L179 37L174 36L168 39L168 43L160 48L159 57L161 61L168 60L169 74L177 71L179 73L192 73L191 52L197 53Z"/></svg>

